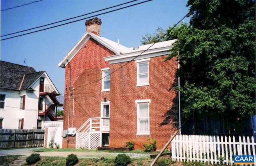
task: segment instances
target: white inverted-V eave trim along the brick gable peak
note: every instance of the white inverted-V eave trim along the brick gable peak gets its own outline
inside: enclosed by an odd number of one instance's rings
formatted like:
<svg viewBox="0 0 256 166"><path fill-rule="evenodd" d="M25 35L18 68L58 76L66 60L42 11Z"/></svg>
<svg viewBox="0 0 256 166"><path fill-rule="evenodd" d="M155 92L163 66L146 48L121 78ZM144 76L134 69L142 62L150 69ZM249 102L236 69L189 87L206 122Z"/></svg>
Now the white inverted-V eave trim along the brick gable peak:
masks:
<svg viewBox="0 0 256 166"><path fill-rule="evenodd" d="M80 40L76 43L76 45L70 50L70 52L68 52L68 54L65 56L65 58L60 61L60 63L58 64L58 67L62 67L65 68L66 65L68 64L68 62L70 62L70 60L72 60L72 58L74 58L74 56L78 53L78 51L84 46L84 44L90 39L93 38L94 40L96 40L97 42L99 42L100 44L102 44L103 46L105 46L106 48L108 48L109 50L113 51L115 54L120 54L120 52L118 50L116 50L115 48L113 48L110 44L104 42L100 36L97 36L95 34L92 34L90 32L86 32L82 38L80 38ZM67 62L68 60L68 62Z"/></svg>

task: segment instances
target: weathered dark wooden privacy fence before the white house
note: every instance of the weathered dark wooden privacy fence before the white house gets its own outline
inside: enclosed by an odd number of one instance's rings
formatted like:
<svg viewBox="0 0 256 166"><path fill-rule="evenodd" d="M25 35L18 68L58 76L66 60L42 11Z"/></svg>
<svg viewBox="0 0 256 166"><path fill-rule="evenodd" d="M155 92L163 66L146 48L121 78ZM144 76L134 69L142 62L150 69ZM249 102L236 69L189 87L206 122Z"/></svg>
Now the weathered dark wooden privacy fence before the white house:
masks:
<svg viewBox="0 0 256 166"><path fill-rule="evenodd" d="M0 149L44 146L44 130L0 129Z"/></svg>

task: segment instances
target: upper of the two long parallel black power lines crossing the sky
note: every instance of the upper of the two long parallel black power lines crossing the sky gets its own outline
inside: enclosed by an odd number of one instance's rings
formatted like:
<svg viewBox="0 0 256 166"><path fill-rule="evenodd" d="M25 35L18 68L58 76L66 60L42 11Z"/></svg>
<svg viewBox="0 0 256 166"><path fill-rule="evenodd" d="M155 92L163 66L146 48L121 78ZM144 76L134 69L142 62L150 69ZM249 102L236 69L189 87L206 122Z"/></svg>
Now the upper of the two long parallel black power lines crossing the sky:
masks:
<svg viewBox="0 0 256 166"><path fill-rule="evenodd" d="M118 4L118 5L111 6L111 7L108 7L108 8L104 8L104 9L101 9L101 10L97 10L97 11L94 11L94 12L90 12L90 13L87 13L87 14L83 14L83 15L80 15L80 16L76 16L76 17L72 17L72 18L67 18L67 19L65 19L65 20L61 20L61 21L57 21L57 22L52 22L52 23L50 23L50 24L46 24L46 25L42 25L42 26L37 26L37 27L34 27L34 28L30 28L30 29L26 29L26 30L21 30L21 31L18 31L18 32L13 32L13 33L10 33L10 34L5 34L5 35L2 35L2 36L0 36L0 37L8 36L8 35L11 35L11 34L17 34L17 33L20 33L20 32L25 32L25 31L28 31L28 30L33 30L33 29L36 29L36 28L42 28L42 27L44 27L44 26L48 26L48 25L52 25L52 24L59 23L59 22L64 22L64 21L67 21L67 20L71 20L71 19L74 19L74 18L86 16L86 15L89 15L89 14L93 14L93 13L100 12L100 11L103 11L103 10L107 10L107 9L110 9L110 8L114 8L114 7L117 7L117 6L122 6L122 5L124 5L124 4L128 4L128 3L131 3L131 2L134 2L134 1L137 1L137 0L132 0L132 1L129 1L129 2L126 2L126 3L123 3L123 4Z"/></svg>

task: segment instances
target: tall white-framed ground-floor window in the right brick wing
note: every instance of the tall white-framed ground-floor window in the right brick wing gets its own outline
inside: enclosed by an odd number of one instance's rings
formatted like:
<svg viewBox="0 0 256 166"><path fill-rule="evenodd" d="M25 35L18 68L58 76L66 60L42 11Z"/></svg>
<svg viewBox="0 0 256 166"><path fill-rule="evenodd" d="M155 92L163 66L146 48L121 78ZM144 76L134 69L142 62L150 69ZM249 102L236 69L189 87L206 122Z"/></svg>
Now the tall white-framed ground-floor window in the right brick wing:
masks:
<svg viewBox="0 0 256 166"><path fill-rule="evenodd" d="M137 135L149 135L149 103L150 100L136 100Z"/></svg>

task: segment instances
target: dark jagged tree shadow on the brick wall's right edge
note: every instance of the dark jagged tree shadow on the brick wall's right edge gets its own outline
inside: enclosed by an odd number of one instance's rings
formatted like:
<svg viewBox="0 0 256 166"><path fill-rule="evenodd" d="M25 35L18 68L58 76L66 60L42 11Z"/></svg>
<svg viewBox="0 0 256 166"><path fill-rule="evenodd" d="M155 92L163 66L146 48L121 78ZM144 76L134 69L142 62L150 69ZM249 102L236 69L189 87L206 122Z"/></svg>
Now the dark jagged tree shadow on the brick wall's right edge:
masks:
<svg viewBox="0 0 256 166"><path fill-rule="evenodd" d="M172 106L167 112L163 115L165 119L162 121L160 126L164 126L167 124L172 124L174 128L178 129L179 126L179 104L178 104L178 90L175 88L178 86L178 79L175 78L174 83L170 86L169 92L174 91L176 92L176 96L172 100ZM170 101L167 101L170 102Z"/></svg>

